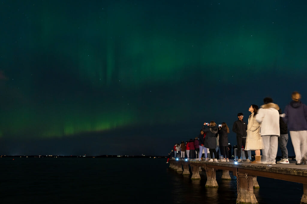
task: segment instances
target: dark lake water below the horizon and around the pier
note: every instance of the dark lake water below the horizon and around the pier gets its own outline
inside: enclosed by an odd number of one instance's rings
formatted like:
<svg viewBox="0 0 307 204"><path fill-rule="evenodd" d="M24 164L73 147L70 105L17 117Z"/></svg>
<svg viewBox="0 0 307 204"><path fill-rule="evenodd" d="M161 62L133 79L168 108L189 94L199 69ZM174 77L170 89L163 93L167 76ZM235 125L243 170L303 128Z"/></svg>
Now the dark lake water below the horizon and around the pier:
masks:
<svg viewBox="0 0 307 204"><path fill-rule="evenodd" d="M0 158L1 203L235 203L236 178L206 188L161 158ZM303 185L258 177L258 203L300 203Z"/></svg>

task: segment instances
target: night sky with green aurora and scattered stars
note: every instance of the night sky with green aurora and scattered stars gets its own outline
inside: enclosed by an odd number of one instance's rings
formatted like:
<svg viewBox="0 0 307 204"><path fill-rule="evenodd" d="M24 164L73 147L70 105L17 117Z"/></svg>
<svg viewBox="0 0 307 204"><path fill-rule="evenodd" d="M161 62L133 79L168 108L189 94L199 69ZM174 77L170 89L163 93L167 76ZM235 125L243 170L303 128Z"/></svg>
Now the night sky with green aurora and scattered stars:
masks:
<svg viewBox="0 0 307 204"><path fill-rule="evenodd" d="M1 1L0 154L167 155L264 97L307 103L306 7Z"/></svg>

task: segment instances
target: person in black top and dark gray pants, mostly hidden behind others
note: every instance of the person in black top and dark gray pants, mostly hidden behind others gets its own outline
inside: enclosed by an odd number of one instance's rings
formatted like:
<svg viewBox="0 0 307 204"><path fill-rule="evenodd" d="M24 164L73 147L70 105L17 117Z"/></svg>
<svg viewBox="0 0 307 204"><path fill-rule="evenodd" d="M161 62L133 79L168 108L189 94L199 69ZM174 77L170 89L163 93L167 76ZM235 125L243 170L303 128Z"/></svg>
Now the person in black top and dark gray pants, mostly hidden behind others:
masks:
<svg viewBox="0 0 307 204"><path fill-rule="evenodd" d="M278 138L278 146L280 150L282 151L282 159L278 161L277 163L280 164L289 164L288 160L288 149L287 149L287 143L288 143L288 126L282 119L282 109L278 110L279 112L279 130L280 130L280 136Z"/></svg>

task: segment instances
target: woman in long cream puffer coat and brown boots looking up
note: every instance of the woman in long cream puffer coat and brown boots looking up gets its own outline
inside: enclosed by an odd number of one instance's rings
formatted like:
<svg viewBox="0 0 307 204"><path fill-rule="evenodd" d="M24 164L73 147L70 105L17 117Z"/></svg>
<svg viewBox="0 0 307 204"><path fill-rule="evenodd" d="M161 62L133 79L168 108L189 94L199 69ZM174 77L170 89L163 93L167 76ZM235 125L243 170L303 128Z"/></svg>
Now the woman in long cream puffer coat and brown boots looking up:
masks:
<svg viewBox="0 0 307 204"><path fill-rule="evenodd" d="M260 123L258 123L255 118L258 111L258 106L253 104L249 107L248 111L251 112L251 115L248 117L246 146L244 150L255 151L255 161L252 161L251 163L261 164L260 149L264 149L264 145L259 133Z"/></svg>

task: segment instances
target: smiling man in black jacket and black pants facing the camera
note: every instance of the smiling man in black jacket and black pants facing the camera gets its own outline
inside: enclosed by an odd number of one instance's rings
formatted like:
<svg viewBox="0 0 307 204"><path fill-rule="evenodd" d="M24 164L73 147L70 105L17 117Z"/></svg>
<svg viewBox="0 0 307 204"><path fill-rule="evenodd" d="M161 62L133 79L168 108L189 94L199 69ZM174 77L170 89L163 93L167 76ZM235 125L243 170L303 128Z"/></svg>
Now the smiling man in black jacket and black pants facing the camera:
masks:
<svg viewBox="0 0 307 204"><path fill-rule="evenodd" d="M247 135L247 123L243 121L243 113L238 113L238 120L233 123L232 131L237 134L238 143L238 162L241 162L241 147L245 147L246 135ZM247 151L244 151L245 157L248 158Z"/></svg>

